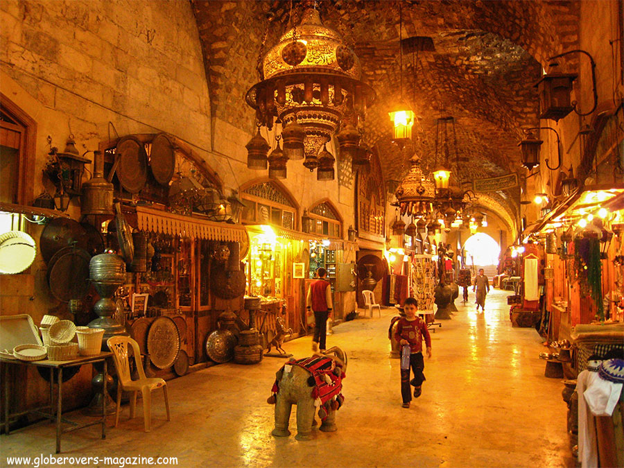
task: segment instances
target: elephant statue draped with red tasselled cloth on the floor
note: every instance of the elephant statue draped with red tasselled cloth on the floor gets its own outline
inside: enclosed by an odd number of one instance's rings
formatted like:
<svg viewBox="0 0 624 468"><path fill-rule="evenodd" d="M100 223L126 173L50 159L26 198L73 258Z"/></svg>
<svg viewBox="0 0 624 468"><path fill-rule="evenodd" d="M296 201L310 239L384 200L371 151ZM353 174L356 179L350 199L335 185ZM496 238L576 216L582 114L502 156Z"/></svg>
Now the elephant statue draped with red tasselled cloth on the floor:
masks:
<svg viewBox="0 0 624 468"><path fill-rule="evenodd" d="M314 413L318 408L321 431L336 431L336 410L344 397L342 380L347 370L347 355L332 347L310 358L291 359L275 374L273 395L268 403L275 404L275 428L272 435L287 437L291 407L297 405L297 440L310 440Z"/></svg>

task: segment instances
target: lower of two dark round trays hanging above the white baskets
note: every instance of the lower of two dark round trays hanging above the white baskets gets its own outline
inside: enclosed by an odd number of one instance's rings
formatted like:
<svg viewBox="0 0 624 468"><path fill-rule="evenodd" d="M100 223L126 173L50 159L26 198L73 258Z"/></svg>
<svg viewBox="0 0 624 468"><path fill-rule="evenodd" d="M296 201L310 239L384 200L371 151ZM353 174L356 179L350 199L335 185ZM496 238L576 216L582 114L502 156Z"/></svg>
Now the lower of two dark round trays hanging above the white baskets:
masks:
<svg viewBox="0 0 624 468"><path fill-rule="evenodd" d="M82 299L89 289L91 255L77 247L56 252L48 263L46 277L52 295L61 302Z"/></svg>

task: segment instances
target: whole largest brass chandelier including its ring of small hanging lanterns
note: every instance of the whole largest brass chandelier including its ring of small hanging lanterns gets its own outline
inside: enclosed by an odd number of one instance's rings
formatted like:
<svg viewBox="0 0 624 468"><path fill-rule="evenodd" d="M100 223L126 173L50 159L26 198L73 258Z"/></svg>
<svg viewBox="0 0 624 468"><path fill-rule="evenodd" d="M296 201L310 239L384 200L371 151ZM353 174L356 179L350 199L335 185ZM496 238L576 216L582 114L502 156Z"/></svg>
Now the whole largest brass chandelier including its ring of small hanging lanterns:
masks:
<svg viewBox="0 0 624 468"><path fill-rule="evenodd" d="M263 170L269 165L270 177L285 178L288 159L304 159L310 171L318 169L318 180L333 180L335 159L326 144L339 126L341 155L357 161L361 150L356 125L375 98L360 77L354 51L336 31L323 26L315 8L307 8L301 24L264 55L260 81L245 96L256 110L258 125L257 135L246 146L248 168ZM267 157L270 146L260 128L271 130L276 117L283 128L283 149L278 146L277 157Z"/></svg>

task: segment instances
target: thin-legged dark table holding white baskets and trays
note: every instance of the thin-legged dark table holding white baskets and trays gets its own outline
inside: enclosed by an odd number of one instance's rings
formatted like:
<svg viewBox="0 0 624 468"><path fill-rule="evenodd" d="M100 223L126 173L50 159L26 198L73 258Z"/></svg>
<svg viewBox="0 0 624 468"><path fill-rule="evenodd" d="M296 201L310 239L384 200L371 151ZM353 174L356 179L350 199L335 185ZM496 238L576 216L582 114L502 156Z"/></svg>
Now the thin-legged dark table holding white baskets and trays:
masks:
<svg viewBox="0 0 624 468"><path fill-rule="evenodd" d="M60 453L60 440L61 435L66 432L76 431L77 429L82 429L89 426L94 426L95 424L102 424L102 438L106 438L106 399L102 399L102 417L97 419L94 422L89 422L87 424L78 424L76 422L70 421L62 417L62 395L63 395L63 369L65 367L73 367L76 365L83 364L94 364L94 363L104 363L104 388L103 395L106 395L106 381L108 376L108 366L106 363L106 359L112 356L111 352L101 352L96 356L79 356L76 359L71 359L69 361L50 361L49 359L44 359L42 361L20 361L18 359L8 359L0 357L0 362L4 364L14 364L14 365L34 365L36 367L46 367L50 370L50 404L46 406L40 406L39 408L33 408L30 410L21 411L19 413L10 413L10 379L8 379L8 369L10 366L5 365L5 371L3 375L4 380L4 431L6 435L9 435L9 423L12 417L17 417L21 415L26 415L28 413L37 413L42 415L51 421L56 421L56 453ZM56 370L56 372L54 372ZM54 374L56 374L56 381L58 385L57 392L57 400L56 400L56 416L54 415ZM45 412L44 410L49 410L49 412ZM61 423L71 424L72 427L62 428Z"/></svg>

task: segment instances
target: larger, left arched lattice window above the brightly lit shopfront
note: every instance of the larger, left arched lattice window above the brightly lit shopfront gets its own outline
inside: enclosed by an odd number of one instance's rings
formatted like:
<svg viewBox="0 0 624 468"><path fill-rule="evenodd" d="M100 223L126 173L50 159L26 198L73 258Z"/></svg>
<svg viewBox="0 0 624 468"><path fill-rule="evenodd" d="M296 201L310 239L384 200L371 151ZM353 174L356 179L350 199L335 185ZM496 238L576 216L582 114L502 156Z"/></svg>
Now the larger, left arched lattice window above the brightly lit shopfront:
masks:
<svg viewBox="0 0 624 468"><path fill-rule="evenodd" d="M259 182L241 190L245 202L243 223L272 224L296 229L297 207L288 193L274 182Z"/></svg>

